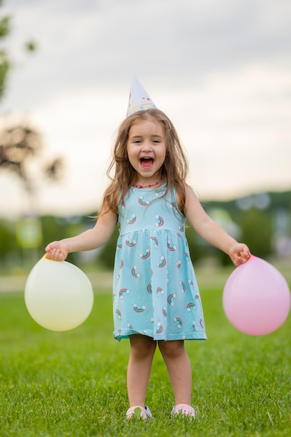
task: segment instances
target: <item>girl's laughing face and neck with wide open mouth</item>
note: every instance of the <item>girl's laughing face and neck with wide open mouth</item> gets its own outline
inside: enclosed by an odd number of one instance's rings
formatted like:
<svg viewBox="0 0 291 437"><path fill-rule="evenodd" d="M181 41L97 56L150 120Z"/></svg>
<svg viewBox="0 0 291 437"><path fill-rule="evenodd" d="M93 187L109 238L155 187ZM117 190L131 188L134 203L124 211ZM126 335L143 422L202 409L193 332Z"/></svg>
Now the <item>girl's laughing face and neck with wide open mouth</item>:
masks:
<svg viewBox="0 0 291 437"><path fill-rule="evenodd" d="M165 161L165 134L154 118L135 122L129 130L126 144L128 159L135 169L134 184L155 184Z"/></svg>

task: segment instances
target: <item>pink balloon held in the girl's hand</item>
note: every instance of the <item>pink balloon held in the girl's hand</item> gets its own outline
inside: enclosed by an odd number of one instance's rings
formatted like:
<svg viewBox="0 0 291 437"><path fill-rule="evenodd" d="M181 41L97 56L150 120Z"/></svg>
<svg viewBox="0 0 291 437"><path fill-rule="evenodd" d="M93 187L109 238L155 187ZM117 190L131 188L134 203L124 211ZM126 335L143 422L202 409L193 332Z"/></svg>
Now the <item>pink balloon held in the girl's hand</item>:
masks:
<svg viewBox="0 0 291 437"><path fill-rule="evenodd" d="M230 274L223 290L225 315L244 334L275 331L288 317L290 304L290 289L284 276L254 255Z"/></svg>

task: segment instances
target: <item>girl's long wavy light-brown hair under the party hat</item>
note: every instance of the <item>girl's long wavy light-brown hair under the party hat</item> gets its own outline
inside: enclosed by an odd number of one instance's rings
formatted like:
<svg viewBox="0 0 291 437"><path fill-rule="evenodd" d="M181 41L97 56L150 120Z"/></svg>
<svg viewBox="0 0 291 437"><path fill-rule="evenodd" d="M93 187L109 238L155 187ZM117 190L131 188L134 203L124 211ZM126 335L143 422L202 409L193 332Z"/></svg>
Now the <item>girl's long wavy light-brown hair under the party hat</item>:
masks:
<svg viewBox="0 0 291 437"><path fill-rule="evenodd" d="M151 118L156 119L161 124L165 135L166 154L161 167L161 179L167 182L165 195L175 186L180 199L179 208L184 211L186 199L185 179L188 174L188 162L172 121L163 111L158 109L135 112L119 126L117 138L114 142L112 160L107 169L107 177L111 179L111 182L105 190L102 209L105 207L105 210L110 209L118 214L118 205L124 202L124 197L133 184L135 177L135 170L129 162L126 149L130 127L138 121ZM113 169L114 176L112 177L111 172Z"/></svg>

